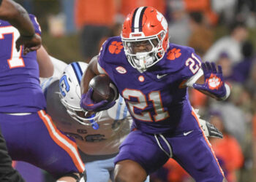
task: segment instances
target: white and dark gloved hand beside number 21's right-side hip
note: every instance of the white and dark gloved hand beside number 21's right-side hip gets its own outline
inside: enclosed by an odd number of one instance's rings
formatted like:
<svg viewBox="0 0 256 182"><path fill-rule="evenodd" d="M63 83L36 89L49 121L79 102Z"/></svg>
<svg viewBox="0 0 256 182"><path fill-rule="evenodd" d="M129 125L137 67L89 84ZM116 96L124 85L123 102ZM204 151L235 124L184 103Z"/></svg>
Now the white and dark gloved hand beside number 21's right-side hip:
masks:
<svg viewBox="0 0 256 182"><path fill-rule="evenodd" d="M203 119L199 119L200 126L203 129L206 137L215 137L215 138L223 138L222 132L220 132L217 127L213 124L206 122Z"/></svg>

